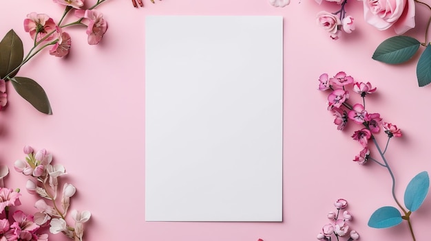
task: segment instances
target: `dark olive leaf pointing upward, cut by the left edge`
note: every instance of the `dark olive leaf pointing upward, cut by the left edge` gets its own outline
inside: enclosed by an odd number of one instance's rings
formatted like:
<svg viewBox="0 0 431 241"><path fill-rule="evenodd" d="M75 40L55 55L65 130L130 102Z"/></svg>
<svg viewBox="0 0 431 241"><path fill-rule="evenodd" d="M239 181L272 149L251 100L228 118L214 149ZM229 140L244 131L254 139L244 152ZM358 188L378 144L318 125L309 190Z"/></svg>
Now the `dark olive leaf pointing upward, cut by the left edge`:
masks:
<svg viewBox="0 0 431 241"><path fill-rule="evenodd" d="M0 42L0 78L3 79L8 73L19 67L23 57L23 42L14 30L10 30ZM12 78L17 73L18 69L9 77Z"/></svg>

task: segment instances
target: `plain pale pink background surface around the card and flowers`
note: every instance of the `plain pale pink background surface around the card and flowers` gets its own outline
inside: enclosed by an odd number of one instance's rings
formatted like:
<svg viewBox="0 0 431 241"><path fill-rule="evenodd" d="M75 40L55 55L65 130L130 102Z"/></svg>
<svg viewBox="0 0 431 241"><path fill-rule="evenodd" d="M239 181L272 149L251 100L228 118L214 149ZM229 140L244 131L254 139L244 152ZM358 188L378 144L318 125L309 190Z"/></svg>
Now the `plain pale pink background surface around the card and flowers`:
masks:
<svg viewBox="0 0 431 241"><path fill-rule="evenodd" d="M87 45L85 30L70 27L70 56L58 59L45 52L21 69L19 76L43 86L54 115L35 111L8 84L8 108L0 115L0 162L11 168L8 187L25 187L26 179L12 166L24 158L22 148L28 144L48 149L55 163L65 165L66 181L78 189L72 209L92 212L85 240L315 240L337 198L348 200L355 218L351 227L361 240L411 240L405 222L380 230L366 225L375 209L395 205L390 176L375 163L353 163L361 150L350 139L356 126L337 131L326 111L326 93L317 91L320 74L333 76L338 71L377 87L368 110L403 130L403 138L392 140L387 154L402 201L408 181L430 171L431 87L417 85L419 55L398 67L371 59L375 47L394 32L365 23L360 1L349 1L346 8L355 17L357 30L338 41L315 23L317 12L333 11L335 4L293 0L285 8L273 8L266 0L144 2L145 8L134 9L130 1L108 0L98 8L109 22L99 45ZM13 28L26 52L31 45L22 25L26 14L46 13L57 21L62 9L52 1L3 1L1 36ZM430 12L423 6L418 12L417 29L407 34L423 41ZM283 222L145 222L144 23L150 14L284 16ZM383 145L385 139L379 141ZM34 211L36 198L22 193L23 209ZM430 217L431 198L427 198L411 216L417 240L429 240ZM67 238L50 235L50 240Z"/></svg>

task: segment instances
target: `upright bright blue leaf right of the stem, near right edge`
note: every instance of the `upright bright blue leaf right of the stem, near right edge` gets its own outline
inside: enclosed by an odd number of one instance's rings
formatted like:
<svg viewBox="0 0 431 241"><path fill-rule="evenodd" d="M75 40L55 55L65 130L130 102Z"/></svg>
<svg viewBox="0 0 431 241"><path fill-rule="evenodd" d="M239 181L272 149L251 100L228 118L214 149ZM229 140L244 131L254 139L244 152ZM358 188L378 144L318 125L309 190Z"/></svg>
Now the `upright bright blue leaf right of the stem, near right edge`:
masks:
<svg viewBox="0 0 431 241"><path fill-rule="evenodd" d="M404 193L404 204L410 211L416 211L421 207L430 188L430 177L428 172L421 172L414 176L408 183Z"/></svg>

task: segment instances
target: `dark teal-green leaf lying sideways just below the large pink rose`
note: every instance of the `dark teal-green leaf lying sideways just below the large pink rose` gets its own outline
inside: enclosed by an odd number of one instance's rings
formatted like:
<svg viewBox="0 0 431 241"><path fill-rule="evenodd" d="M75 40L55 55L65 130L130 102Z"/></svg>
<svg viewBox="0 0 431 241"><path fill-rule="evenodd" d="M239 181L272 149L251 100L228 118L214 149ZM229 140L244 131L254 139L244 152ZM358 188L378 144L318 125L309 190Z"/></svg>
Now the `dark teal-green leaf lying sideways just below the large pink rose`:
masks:
<svg viewBox="0 0 431 241"><path fill-rule="evenodd" d="M373 60L387 64L401 64L410 60L417 52L421 43L409 36L395 36L383 41L372 54Z"/></svg>

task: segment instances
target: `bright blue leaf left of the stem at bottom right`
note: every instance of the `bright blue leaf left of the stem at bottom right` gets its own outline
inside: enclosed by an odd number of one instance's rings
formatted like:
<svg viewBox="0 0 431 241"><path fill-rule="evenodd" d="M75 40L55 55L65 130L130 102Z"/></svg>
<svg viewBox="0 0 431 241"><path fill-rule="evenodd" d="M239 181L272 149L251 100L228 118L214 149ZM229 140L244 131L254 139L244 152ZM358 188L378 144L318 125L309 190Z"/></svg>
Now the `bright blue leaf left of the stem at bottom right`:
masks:
<svg viewBox="0 0 431 241"><path fill-rule="evenodd" d="M377 209L368 220L368 226L384 229L399 225L403 221L401 213L395 207L381 207Z"/></svg>

